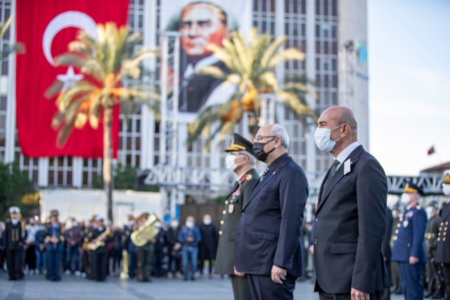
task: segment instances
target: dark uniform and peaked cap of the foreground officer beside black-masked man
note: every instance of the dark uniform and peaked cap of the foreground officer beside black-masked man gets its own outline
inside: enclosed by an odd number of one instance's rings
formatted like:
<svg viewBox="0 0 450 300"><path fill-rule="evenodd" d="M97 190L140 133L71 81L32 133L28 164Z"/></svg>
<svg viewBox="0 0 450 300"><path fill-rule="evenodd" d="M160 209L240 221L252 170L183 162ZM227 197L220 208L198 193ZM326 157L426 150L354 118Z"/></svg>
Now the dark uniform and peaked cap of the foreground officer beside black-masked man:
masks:
<svg viewBox="0 0 450 300"><path fill-rule="evenodd" d="M234 146L233 146L234 145ZM239 151L242 148L236 147L246 146L246 151L252 153L252 144L243 137L234 135L231 147L228 151ZM231 285L233 286L234 299L251 299L250 289L248 287L247 276L239 277L234 275L234 246L236 239L236 231L240 215L246 204L248 195L252 192L253 187L257 184L259 175L254 168L248 170L238 178L231 193L226 197L224 217L221 220L219 231L219 246L217 247L216 265L214 274L229 275Z"/></svg>

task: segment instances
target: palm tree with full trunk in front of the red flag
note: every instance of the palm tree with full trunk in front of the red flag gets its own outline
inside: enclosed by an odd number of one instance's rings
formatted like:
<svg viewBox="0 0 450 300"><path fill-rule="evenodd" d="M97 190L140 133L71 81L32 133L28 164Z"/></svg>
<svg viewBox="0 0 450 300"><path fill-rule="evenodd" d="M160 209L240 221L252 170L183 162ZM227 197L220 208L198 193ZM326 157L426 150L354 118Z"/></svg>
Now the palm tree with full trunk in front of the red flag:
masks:
<svg viewBox="0 0 450 300"><path fill-rule="evenodd" d="M81 129L89 123L98 128L103 118L103 185L108 199L108 219L113 221L112 148L111 125L113 108L117 105L134 106L150 104L158 110L158 96L144 92L141 88L121 86L124 77L139 78L139 64L143 59L158 54L154 49L141 48L134 51L141 35L128 35L129 27L117 28L115 23L97 25L98 40L88 32L80 31L75 41L68 45L69 52L56 57L58 65L79 68L83 79L74 87L61 91L62 83L54 82L46 91L51 98L58 95L58 112L53 117L52 127L58 129L57 146L63 146L74 128Z"/></svg>

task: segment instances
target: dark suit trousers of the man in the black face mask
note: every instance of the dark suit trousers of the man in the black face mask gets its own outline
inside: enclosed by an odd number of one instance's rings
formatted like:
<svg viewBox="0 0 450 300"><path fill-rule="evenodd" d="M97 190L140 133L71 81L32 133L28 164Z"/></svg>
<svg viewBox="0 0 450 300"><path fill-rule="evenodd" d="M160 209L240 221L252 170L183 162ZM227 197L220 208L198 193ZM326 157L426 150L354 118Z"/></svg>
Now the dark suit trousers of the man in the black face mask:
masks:
<svg viewBox="0 0 450 300"><path fill-rule="evenodd" d="M271 276L248 274L248 285L253 300L293 300L297 276L286 275L283 285L272 281Z"/></svg>

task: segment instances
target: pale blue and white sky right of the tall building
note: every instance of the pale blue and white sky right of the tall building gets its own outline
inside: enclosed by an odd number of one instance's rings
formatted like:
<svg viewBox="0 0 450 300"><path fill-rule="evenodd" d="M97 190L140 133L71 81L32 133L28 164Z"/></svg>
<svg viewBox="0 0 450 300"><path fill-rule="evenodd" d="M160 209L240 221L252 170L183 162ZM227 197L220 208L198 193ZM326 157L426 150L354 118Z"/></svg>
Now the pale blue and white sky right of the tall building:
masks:
<svg viewBox="0 0 450 300"><path fill-rule="evenodd" d="M449 15L449 0L368 0L369 148L387 175L450 162Z"/></svg>

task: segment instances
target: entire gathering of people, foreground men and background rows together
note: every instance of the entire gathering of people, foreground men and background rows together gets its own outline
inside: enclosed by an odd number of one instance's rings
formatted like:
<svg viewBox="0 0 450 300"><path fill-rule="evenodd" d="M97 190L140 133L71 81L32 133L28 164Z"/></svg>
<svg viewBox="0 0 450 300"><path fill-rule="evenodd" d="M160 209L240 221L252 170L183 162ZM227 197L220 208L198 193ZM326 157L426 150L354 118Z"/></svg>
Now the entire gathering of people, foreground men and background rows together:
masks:
<svg viewBox="0 0 450 300"><path fill-rule="evenodd" d="M193 216L180 225L176 218L165 224L143 213L118 228L101 215L65 226L51 211L49 223L38 225L34 219L25 224L20 209L11 207L1 242L8 275L20 280L44 272L58 281L63 270L98 281L119 273L142 282L152 276L196 280L207 263L209 277L229 276L235 299L288 300L305 275L308 238L320 299L390 299L391 292L449 299L450 204L421 199L420 185L407 182L391 211L385 172L358 143L353 112L327 108L317 125L316 146L334 159L311 223L304 222L307 177L288 154L288 132L265 125L254 143L235 133L225 149L236 182L219 232L210 215L197 227ZM261 175L256 160L267 164ZM450 170L442 189L450 196Z"/></svg>

